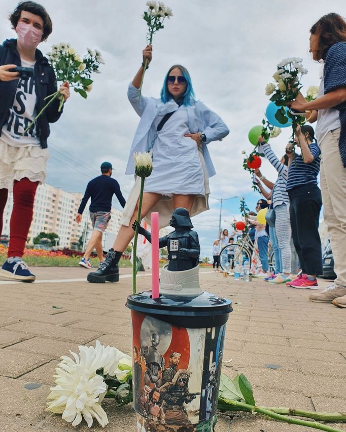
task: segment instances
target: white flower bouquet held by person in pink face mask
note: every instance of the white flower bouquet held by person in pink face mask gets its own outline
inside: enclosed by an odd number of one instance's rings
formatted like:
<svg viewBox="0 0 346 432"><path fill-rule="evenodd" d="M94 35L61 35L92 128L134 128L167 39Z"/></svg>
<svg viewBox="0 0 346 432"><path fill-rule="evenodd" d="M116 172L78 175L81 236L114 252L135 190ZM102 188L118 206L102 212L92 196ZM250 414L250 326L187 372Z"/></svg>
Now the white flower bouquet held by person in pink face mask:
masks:
<svg viewBox="0 0 346 432"><path fill-rule="evenodd" d="M76 93L79 93L85 99L87 93L92 89L93 80L91 75L93 72L99 72L100 64L105 64L101 54L98 51L92 51L87 49L87 54L83 59L77 54L76 50L70 46L70 44L57 44L52 46L52 51L47 53L49 63L52 66L56 81L60 83L67 82ZM60 105L58 110L60 111L64 102L64 98L60 94L60 91L48 95L45 100L48 103L41 109L29 126L24 132L29 130L36 120L42 115L44 110L50 105L57 97L60 98Z"/></svg>

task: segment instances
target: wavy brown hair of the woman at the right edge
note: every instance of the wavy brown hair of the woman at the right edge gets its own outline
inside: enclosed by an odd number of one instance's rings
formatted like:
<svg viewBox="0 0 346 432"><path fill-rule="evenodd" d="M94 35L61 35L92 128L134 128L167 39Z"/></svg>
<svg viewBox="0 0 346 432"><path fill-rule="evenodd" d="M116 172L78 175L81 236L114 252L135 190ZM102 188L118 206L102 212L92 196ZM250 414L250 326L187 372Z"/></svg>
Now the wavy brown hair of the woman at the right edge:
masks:
<svg viewBox="0 0 346 432"><path fill-rule="evenodd" d="M310 33L319 36L317 60L323 62L327 51L337 42L346 42L346 22L338 14L323 15L311 28Z"/></svg>

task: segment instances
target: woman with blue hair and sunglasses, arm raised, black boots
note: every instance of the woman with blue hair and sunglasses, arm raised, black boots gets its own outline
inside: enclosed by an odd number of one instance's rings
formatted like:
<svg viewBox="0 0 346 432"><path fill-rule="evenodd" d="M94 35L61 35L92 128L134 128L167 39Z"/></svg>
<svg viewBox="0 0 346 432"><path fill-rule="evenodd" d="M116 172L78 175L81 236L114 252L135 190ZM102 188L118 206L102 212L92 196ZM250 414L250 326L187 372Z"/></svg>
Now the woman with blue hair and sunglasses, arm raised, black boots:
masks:
<svg viewBox="0 0 346 432"><path fill-rule="evenodd" d="M143 63L128 88L128 98L141 117L133 138L126 174L134 174L133 153L148 151L153 171L146 179L142 216L160 213L160 227L167 226L172 212L186 208L191 216L208 210L209 181L215 169L207 150L211 141L221 140L229 130L220 117L195 100L188 70L170 67L165 76L161 98L140 94L145 62L152 59L152 47L143 51ZM119 259L133 237L131 228L137 215L140 178L131 189L123 212L122 225L111 250L100 268L89 273L88 281L114 280ZM107 279L108 278L108 279Z"/></svg>

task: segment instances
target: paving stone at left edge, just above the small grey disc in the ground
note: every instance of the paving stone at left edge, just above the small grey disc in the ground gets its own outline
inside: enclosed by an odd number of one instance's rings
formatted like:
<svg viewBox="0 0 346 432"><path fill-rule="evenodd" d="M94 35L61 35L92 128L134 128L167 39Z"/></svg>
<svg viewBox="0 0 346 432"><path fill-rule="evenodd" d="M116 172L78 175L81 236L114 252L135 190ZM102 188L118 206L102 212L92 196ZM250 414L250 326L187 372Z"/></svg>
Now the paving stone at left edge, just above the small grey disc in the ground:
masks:
<svg viewBox="0 0 346 432"><path fill-rule="evenodd" d="M2 348L0 354L0 375L10 378L17 378L50 360L44 355L19 351L12 346Z"/></svg>

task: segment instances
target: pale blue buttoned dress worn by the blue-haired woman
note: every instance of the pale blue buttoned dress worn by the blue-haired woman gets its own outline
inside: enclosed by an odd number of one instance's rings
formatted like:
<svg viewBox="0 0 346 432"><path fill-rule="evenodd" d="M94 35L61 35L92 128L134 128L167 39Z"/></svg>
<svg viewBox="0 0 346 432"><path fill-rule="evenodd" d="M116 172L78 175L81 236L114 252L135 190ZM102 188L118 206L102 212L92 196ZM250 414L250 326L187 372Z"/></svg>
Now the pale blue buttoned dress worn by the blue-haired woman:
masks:
<svg viewBox="0 0 346 432"><path fill-rule="evenodd" d="M190 137L188 113L184 105L178 108L163 125L153 145L153 172L146 178L145 192L162 195L204 195L204 173L198 146ZM173 110L172 109L172 110ZM156 117L157 128L163 115Z"/></svg>

